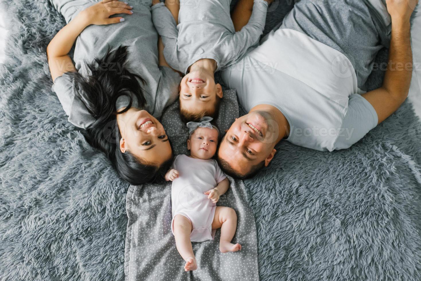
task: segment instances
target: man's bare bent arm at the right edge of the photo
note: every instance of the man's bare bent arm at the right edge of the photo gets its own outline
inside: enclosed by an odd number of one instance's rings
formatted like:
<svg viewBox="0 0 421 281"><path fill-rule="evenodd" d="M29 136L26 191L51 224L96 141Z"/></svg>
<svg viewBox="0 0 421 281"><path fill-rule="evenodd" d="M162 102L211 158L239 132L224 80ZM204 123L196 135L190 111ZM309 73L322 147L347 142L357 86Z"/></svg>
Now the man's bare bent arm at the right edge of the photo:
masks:
<svg viewBox="0 0 421 281"><path fill-rule="evenodd" d="M408 5L408 2L410 5ZM362 96L374 107L378 124L389 117L408 96L412 76L409 19L418 0L386 0L392 18L389 63L383 85Z"/></svg>

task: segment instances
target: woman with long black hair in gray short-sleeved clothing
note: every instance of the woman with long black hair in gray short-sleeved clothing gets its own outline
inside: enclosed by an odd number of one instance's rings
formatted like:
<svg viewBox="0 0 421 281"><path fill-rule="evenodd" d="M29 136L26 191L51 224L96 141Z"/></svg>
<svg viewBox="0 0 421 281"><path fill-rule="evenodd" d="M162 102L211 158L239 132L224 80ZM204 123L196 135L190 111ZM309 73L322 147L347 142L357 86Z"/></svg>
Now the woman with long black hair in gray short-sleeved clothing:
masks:
<svg viewBox="0 0 421 281"><path fill-rule="evenodd" d="M128 183L163 179L172 150L157 118L176 100L181 77L158 54L149 5L52 3L67 25L47 47L48 64L69 122L86 129L89 143Z"/></svg>

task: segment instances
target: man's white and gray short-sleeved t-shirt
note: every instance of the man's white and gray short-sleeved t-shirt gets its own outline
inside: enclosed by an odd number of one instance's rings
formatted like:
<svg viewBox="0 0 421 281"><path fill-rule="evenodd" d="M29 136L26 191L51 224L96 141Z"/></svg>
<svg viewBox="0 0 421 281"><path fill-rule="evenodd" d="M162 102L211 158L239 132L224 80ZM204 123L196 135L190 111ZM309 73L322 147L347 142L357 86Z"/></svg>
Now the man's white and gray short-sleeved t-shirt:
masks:
<svg viewBox="0 0 421 281"><path fill-rule="evenodd" d="M245 110L277 107L289 122L291 143L320 151L348 148L378 122L360 93L387 37L387 21L378 20L387 19L384 11L360 0L302 0L222 79L237 89Z"/></svg>

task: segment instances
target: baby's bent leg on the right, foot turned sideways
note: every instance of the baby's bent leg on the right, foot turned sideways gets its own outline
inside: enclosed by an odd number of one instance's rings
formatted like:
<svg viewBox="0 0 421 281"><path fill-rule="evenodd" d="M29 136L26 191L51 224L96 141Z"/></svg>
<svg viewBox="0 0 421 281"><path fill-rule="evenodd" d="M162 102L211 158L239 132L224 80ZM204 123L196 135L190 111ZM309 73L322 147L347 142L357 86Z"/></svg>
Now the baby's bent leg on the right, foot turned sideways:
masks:
<svg viewBox="0 0 421 281"><path fill-rule="evenodd" d="M232 244L231 240L237 230L237 214L234 209L218 206L215 210L212 229L221 228L221 239L219 241L219 251L221 253L237 252L241 250L240 244Z"/></svg>

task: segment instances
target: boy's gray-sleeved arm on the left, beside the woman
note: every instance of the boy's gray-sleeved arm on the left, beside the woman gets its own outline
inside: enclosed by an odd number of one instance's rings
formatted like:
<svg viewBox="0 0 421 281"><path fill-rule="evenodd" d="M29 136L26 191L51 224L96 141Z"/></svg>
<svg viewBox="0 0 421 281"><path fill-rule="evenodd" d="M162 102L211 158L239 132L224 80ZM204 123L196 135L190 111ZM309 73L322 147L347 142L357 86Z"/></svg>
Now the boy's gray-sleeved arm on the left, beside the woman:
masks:
<svg viewBox="0 0 421 281"><path fill-rule="evenodd" d="M158 40L158 62L160 66L170 66L177 70L179 64L176 56L174 56L177 50L177 24L164 3L155 3L156 1L157 0L154 0L152 2L151 12L152 21L160 35L160 40Z"/></svg>

